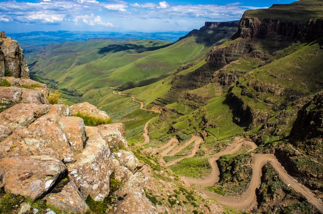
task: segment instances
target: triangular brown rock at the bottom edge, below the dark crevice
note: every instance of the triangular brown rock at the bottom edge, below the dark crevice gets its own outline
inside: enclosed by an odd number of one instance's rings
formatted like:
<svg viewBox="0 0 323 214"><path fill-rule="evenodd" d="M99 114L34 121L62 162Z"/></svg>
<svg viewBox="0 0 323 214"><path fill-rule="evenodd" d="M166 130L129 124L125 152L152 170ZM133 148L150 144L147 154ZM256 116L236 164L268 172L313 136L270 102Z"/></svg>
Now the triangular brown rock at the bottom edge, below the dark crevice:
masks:
<svg viewBox="0 0 323 214"><path fill-rule="evenodd" d="M44 199L47 204L69 212L85 213L89 209L73 181L69 181L60 192L52 191Z"/></svg>

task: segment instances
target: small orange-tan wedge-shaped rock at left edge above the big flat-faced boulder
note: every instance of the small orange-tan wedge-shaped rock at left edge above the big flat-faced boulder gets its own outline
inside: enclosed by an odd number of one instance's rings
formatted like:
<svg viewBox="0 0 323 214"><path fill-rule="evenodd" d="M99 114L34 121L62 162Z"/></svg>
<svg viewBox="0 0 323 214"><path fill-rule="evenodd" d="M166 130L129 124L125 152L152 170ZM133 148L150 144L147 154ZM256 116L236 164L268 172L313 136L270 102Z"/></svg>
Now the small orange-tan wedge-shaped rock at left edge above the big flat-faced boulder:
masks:
<svg viewBox="0 0 323 214"><path fill-rule="evenodd" d="M0 158L32 155L24 139L12 133L0 144Z"/></svg>

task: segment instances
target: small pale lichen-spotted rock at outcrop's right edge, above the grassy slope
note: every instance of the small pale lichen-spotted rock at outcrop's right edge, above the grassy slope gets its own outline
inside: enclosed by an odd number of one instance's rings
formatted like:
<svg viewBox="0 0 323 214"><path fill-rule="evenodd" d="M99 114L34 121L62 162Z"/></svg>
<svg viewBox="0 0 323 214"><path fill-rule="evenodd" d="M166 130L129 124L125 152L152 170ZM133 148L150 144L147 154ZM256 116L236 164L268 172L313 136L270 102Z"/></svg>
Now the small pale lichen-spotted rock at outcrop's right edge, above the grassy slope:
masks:
<svg viewBox="0 0 323 214"><path fill-rule="evenodd" d="M143 163L139 162L132 152L120 150L116 155L120 164L132 173L137 172L143 166Z"/></svg>

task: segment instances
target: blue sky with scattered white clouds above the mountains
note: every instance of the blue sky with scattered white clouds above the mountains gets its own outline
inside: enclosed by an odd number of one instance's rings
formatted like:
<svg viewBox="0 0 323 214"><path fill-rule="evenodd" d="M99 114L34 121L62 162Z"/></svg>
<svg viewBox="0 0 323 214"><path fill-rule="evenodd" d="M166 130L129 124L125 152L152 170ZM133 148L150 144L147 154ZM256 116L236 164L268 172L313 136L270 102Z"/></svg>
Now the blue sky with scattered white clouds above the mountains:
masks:
<svg viewBox="0 0 323 214"><path fill-rule="evenodd" d="M295 0L0 0L0 31L139 31L199 29L240 20L244 11Z"/></svg>

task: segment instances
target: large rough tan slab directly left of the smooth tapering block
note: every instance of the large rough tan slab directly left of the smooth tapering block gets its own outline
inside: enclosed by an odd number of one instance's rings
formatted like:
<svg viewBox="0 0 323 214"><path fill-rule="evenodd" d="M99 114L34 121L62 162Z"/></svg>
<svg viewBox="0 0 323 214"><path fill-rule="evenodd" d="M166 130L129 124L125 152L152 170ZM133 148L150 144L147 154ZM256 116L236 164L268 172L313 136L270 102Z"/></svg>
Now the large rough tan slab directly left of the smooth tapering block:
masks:
<svg viewBox="0 0 323 214"><path fill-rule="evenodd" d="M59 120L69 115L67 105L51 105L47 114L37 118L28 129L20 129L19 135L25 139L32 153L41 155L54 155L64 160L64 163L72 163L76 159L69 145ZM17 130L18 131L18 130ZM55 152L55 154L52 154Z"/></svg>

